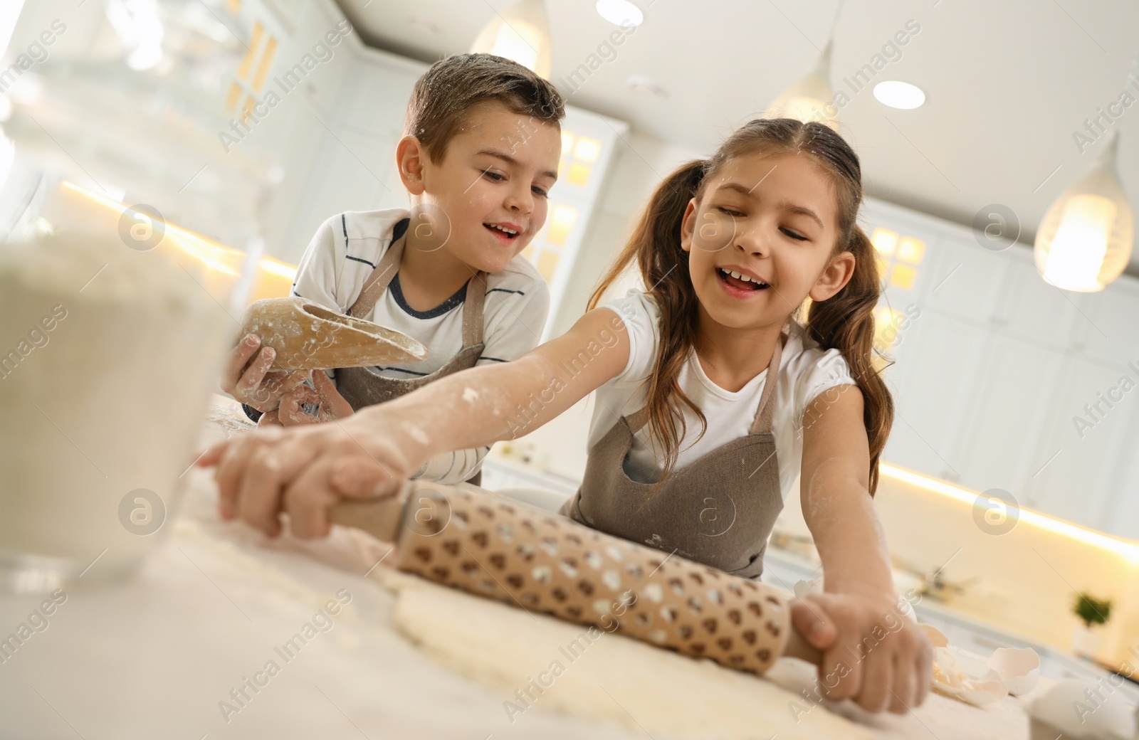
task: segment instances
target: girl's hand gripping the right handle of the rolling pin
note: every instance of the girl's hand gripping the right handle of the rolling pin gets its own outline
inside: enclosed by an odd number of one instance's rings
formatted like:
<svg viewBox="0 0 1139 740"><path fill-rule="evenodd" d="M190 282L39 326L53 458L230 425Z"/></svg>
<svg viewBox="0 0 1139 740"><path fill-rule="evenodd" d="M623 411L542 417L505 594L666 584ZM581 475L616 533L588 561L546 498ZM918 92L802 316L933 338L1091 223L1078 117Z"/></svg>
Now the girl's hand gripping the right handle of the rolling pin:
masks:
<svg viewBox="0 0 1139 740"><path fill-rule="evenodd" d="M901 600L859 593L809 594L792 602L795 630L822 650L819 692L868 712L904 714L925 700L933 648Z"/></svg>

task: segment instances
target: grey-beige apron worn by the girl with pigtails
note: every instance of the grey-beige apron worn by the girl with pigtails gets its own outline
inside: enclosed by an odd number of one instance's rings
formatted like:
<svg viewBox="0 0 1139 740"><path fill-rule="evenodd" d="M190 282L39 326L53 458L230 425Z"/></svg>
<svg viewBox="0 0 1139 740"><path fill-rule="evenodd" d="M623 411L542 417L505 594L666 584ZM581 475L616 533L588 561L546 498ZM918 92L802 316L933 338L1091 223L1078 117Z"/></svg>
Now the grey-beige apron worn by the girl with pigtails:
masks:
<svg viewBox="0 0 1139 740"><path fill-rule="evenodd" d="M785 337L776 343L747 436L673 470L652 493L655 484L631 479L624 468L633 435L648 421L647 409L622 417L589 451L581 487L562 513L734 575L759 577L768 535L782 510L771 416Z"/></svg>

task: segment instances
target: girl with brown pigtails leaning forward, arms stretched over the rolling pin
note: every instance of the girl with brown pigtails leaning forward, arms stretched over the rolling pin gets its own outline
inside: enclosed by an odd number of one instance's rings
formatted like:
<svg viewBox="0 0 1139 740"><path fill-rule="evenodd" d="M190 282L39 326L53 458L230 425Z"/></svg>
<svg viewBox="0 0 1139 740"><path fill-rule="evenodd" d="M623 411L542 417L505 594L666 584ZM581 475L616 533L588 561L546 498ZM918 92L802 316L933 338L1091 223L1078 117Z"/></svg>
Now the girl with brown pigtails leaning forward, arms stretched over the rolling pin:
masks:
<svg viewBox="0 0 1139 740"><path fill-rule="evenodd" d="M871 365L880 288L861 198L858 157L829 128L752 121L657 188L566 335L336 424L211 447L199 464L218 466L221 513L272 535L284 511L321 536L341 499L391 495L432 454L525 434L597 390L563 513L755 576L801 472L826 592L794 605L795 627L823 650L827 693L906 712L932 649L898 619L871 501L893 403ZM647 291L598 307L634 261Z"/></svg>

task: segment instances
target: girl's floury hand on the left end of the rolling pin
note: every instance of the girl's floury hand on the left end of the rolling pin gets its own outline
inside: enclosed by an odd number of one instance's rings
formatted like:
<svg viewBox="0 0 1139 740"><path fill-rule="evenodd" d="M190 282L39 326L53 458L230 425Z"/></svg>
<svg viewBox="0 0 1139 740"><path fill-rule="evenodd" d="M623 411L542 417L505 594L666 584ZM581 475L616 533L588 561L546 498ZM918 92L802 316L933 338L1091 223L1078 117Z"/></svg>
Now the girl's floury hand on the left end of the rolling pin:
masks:
<svg viewBox="0 0 1139 740"><path fill-rule="evenodd" d="M280 534L288 513L293 534L328 534L328 508L343 499L390 496L423 463L398 424L378 420L378 408L337 424L254 429L206 449L198 467L216 467L222 519L240 518L269 536ZM405 435L403 435L405 436Z"/></svg>

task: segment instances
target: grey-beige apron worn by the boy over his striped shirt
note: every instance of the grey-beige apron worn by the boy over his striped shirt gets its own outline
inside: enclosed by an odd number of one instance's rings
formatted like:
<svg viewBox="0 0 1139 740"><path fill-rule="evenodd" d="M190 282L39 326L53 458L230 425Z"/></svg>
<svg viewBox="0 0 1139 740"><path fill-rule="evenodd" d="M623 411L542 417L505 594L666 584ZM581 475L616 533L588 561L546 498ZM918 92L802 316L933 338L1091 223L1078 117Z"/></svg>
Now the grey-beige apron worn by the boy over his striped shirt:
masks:
<svg viewBox="0 0 1139 740"><path fill-rule="evenodd" d="M384 290L387 289L395 273L400 270L403 242L402 237L396 239L372 273L368 276L363 289L360 291L360 297L349 309L350 316L364 318L384 295ZM421 378L385 378L371 368L337 368L336 389L352 405L353 411L359 411L364 406L384 403L405 393L411 393L416 388L452 372L474 368L483 354L483 303L485 297L486 273L480 271L467 281L467 295L462 303L462 348L435 372ZM481 479L482 471L480 470L467 483L478 485Z"/></svg>

